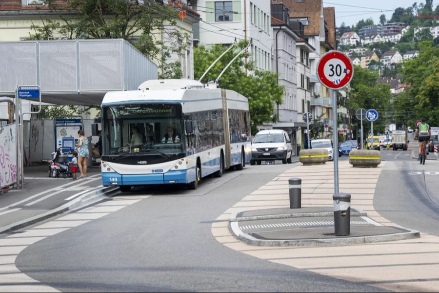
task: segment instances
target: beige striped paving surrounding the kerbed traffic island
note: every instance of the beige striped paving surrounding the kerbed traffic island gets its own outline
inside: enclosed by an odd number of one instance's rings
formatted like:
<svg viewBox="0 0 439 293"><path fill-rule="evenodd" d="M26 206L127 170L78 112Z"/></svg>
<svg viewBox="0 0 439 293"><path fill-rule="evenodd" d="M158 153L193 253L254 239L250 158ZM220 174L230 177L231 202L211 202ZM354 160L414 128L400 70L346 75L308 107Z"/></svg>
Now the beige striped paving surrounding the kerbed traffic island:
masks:
<svg viewBox="0 0 439 293"><path fill-rule="evenodd" d="M339 188L351 194L351 206L379 224L397 226L373 206L375 188L386 162L377 168L353 168L339 162ZM302 179L302 208L333 206L333 164L297 166L245 196L212 224L212 234L223 245L274 263L361 282L395 291L434 291L439 288L439 237L421 233L418 239L349 246L261 247L237 240L228 220L239 212L289 207L288 178ZM355 227L351 227L351 231Z"/></svg>

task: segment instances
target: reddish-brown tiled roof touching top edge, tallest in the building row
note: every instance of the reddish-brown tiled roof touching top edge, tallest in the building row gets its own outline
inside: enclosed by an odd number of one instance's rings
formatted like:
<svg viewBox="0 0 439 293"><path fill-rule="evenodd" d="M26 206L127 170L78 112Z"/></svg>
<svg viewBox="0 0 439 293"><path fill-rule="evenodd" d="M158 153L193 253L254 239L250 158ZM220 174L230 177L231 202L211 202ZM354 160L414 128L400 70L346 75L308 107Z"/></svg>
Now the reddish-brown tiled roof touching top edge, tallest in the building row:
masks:
<svg viewBox="0 0 439 293"><path fill-rule="evenodd" d="M318 36L320 34L320 14L322 0L296 0L283 1L283 4L290 10L292 18L308 18L308 25L305 26L305 35Z"/></svg>

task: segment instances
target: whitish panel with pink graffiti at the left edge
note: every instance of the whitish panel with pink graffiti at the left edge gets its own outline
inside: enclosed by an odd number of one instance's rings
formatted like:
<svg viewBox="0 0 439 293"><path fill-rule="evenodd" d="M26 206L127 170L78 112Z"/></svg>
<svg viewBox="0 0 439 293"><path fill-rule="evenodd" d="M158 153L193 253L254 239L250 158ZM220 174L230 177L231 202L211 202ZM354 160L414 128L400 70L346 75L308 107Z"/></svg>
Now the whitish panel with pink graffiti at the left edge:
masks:
<svg viewBox="0 0 439 293"><path fill-rule="evenodd" d="M0 187L17 182L15 124L0 126Z"/></svg>

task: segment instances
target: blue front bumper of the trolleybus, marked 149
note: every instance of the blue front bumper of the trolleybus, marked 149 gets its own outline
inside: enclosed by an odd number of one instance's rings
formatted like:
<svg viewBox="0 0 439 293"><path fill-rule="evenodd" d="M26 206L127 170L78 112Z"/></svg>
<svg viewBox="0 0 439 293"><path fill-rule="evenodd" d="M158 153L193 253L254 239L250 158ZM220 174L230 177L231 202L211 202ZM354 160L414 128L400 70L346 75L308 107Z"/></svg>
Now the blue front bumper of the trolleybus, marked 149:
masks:
<svg viewBox="0 0 439 293"><path fill-rule="evenodd" d="M187 170L170 170L166 173L158 174L102 173L102 186L187 184L193 181L195 181L195 168Z"/></svg>

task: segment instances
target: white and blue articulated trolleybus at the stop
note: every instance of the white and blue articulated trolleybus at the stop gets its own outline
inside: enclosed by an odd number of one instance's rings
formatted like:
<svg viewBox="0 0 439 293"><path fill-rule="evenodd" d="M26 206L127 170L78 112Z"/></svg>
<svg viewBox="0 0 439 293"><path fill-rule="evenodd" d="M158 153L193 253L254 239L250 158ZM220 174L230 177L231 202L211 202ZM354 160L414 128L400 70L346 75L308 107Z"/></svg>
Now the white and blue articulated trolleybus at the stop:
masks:
<svg viewBox="0 0 439 293"><path fill-rule="evenodd" d="M247 98L194 80L150 80L102 101L102 185L187 184L251 158Z"/></svg>

